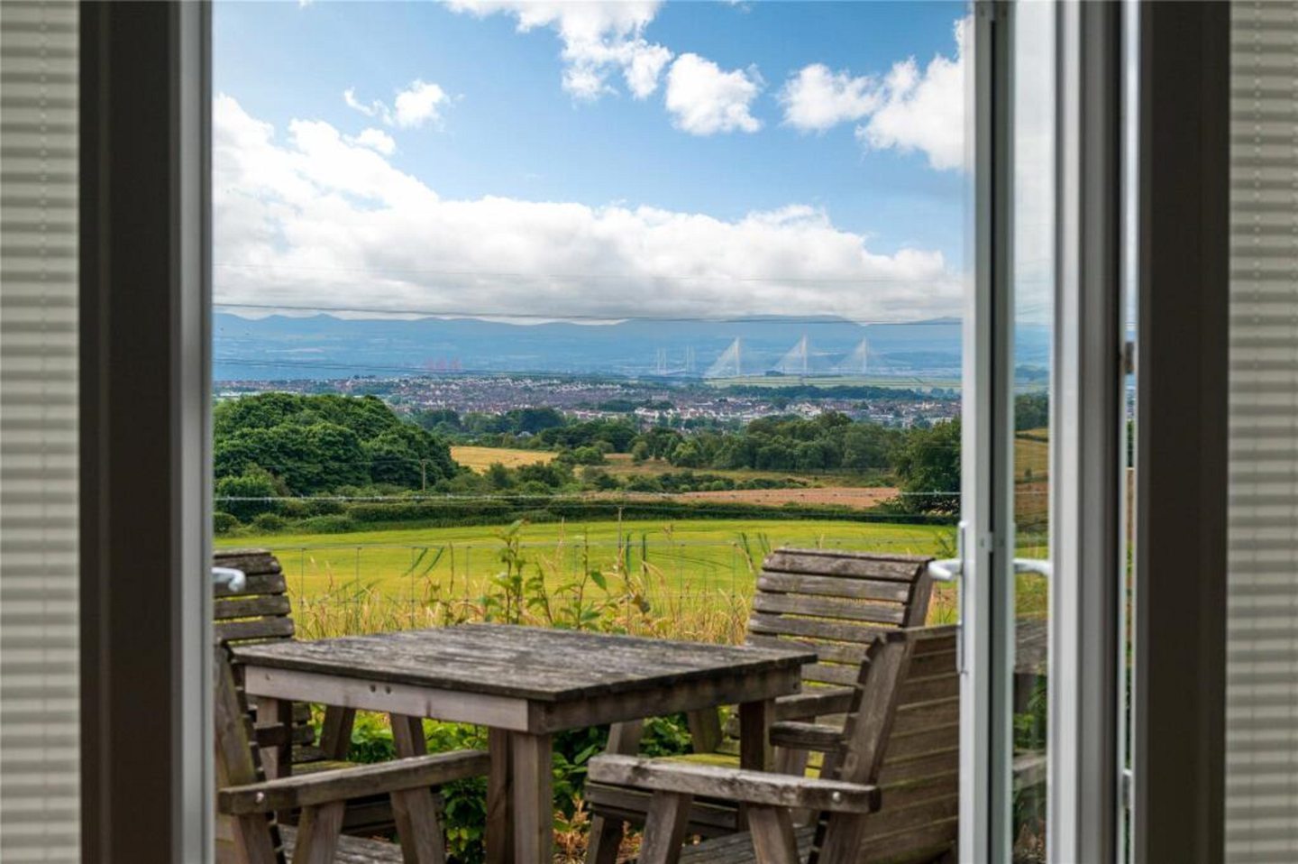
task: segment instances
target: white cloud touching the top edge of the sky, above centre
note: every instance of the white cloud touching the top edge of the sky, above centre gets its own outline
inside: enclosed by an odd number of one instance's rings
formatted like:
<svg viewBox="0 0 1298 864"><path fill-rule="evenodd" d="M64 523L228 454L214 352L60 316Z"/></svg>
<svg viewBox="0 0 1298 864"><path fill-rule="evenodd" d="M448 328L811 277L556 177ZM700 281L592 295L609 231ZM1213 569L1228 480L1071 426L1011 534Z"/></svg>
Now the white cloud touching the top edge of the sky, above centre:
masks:
<svg viewBox="0 0 1298 864"><path fill-rule="evenodd" d="M583 101L617 92L609 83L614 73L622 73L632 96L646 99L672 57L644 38L659 0L449 0L448 5L478 17L514 16L523 32L553 29L563 43L563 88Z"/></svg>

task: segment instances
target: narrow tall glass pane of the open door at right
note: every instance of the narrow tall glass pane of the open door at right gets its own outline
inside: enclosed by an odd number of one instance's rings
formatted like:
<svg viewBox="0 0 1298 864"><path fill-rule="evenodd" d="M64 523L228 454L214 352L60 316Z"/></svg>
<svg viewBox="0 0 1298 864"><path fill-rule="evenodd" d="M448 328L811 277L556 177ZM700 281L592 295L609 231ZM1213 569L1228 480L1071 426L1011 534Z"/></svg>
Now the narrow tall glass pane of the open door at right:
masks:
<svg viewBox="0 0 1298 864"><path fill-rule="evenodd" d="M1015 6L1014 75L1014 802L1015 861L1046 852L1050 342L1054 320L1054 22ZM1042 566L1045 565L1045 568Z"/></svg>

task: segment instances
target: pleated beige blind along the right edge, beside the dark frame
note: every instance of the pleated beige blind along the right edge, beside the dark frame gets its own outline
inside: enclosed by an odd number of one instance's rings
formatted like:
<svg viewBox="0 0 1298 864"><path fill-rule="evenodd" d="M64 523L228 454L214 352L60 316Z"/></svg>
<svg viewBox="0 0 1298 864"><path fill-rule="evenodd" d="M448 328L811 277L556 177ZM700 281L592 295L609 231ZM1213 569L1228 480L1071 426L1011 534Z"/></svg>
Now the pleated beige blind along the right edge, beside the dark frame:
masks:
<svg viewBox="0 0 1298 864"><path fill-rule="evenodd" d="M1298 4L1234 3L1231 62L1227 860L1292 864L1298 861Z"/></svg>

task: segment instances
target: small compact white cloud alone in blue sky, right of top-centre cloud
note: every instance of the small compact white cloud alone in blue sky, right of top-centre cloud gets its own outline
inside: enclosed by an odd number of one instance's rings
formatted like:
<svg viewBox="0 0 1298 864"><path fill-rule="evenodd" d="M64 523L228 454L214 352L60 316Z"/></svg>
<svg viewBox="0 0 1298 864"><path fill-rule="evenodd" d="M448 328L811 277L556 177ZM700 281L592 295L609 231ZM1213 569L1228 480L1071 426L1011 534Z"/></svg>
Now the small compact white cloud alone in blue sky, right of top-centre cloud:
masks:
<svg viewBox="0 0 1298 864"><path fill-rule="evenodd" d="M723 71L711 60L681 55L667 73L667 110L678 129L692 135L755 133L753 100L762 91L757 70Z"/></svg>

